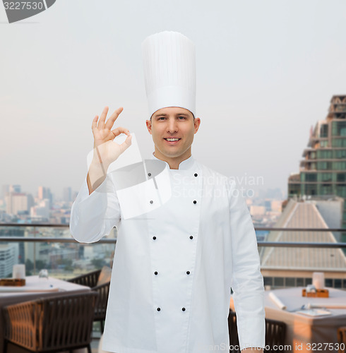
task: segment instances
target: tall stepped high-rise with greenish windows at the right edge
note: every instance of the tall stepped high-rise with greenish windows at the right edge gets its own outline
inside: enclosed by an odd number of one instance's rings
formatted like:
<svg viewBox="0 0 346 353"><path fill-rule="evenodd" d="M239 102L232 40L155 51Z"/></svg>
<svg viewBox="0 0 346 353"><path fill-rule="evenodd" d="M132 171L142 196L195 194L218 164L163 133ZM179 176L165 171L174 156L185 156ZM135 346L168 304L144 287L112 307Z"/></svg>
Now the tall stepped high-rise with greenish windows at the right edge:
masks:
<svg viewBox="0 0 346 353"><path fill-rule="evenodd" d="M340 196L346 201L346 95L332 97L326 119L310 131L303 157L299 173L288 179L288 198ZM341 227L346 229L346 202Z"/></svg>

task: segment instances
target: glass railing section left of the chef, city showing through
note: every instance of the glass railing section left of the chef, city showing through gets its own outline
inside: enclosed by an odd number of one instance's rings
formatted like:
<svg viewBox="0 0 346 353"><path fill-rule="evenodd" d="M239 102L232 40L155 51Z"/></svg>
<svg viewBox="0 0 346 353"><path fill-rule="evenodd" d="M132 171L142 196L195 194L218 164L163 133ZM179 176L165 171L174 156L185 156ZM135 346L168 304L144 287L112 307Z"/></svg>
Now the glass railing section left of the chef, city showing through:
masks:
<svg viewBox="0 0 346 353"><path fill-rule="evenodd" d="M97 243L81 244L68 225L0 224L0 278L11 277L13 265L24 263L26 275L45 268L67 280L110 265L116 241L116 228Z"/></svg>

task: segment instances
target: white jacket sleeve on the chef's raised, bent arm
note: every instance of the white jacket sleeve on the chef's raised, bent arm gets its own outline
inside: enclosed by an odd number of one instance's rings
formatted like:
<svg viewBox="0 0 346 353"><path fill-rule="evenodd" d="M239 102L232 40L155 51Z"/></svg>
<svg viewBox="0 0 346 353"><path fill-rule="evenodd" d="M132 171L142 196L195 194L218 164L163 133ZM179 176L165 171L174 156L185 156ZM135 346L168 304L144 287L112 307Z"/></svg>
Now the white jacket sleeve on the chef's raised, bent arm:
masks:
<svg viewBox="0 0 346 353"><path fill-rule="evenodd" d="M85 178L71 208L70 231L80 243L94 243L111 232L120 220L120 207L112 181L105 181L89 195Z"/></svg>

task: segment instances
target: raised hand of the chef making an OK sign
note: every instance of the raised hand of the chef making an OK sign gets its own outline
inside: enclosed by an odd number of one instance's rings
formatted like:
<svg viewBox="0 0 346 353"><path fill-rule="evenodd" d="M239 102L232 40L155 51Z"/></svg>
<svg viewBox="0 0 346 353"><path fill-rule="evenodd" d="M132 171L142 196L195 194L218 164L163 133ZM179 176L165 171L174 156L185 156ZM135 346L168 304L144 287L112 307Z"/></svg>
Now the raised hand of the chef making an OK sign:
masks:
<svg viewBox="0 0 346 353"><path fill-rule="evenodd" d="M119 155L131 145L132 136L127 128L119 127L112 130L114 122L122 111L123 108L118 108L106 122L108 107L105 107L100 119L99 116L95 116L93 119L94 153L87 176L89 194L93 193L105 180L109 164L117 160ZM114 142L114 138L121 133L125 133L127 137L119 145Z"/></svg>

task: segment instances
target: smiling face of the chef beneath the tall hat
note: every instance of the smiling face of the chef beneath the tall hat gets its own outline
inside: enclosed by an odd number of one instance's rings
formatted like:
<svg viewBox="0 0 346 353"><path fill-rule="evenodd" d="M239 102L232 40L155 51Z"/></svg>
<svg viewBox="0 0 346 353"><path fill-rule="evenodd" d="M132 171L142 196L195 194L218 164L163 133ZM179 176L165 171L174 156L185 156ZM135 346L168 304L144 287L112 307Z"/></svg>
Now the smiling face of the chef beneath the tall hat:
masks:
<svg viewBox="0 0 346 353"><path fill-rule="evenodd" d="M187 109L167 107L157 110L146 124L155 143L155 157L181 162L191 156L193 135L198 131L201 119L193 118Z"/></svg>

